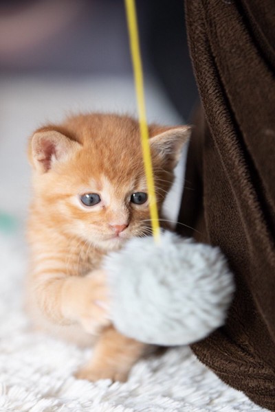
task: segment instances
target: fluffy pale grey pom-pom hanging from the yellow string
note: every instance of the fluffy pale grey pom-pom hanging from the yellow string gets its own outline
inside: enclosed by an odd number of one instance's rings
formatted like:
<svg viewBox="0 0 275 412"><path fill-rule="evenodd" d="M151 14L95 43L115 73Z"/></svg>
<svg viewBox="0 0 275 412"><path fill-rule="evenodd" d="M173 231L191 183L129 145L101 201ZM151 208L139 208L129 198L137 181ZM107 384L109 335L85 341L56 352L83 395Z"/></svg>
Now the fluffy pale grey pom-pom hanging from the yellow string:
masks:
<svg viewBox="0 0 275 412"><path fill-rule="evenodd" d="M145 343L185 345L223 325L234 291L217 247L162 233L133 238L104 261L113 323Z"/></svg>

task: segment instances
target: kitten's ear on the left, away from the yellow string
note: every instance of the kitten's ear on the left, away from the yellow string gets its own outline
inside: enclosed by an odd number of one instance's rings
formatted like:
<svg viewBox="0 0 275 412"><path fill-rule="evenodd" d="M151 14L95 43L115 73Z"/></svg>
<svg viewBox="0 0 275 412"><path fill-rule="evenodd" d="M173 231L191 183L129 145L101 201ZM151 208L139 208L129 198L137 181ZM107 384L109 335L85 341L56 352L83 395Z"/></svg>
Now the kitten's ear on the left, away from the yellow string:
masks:
<svg viewBox="0 0 275 412"><path fill-rule="evenodd" d="M37 130L30 139L29 157L34 168L46 173L56 161L63 161L81 145L57 130Z"/></svg>

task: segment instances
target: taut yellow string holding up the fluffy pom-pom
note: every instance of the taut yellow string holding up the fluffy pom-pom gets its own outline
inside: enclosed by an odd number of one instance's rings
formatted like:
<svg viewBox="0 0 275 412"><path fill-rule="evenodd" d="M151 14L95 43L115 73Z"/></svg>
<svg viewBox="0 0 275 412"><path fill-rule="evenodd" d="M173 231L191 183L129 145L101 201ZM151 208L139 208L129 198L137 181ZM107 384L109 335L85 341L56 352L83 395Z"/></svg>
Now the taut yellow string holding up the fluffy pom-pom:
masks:
<svg viewBox="0 0 275 412"><path fill-rule="evenodd" d="M144 99L144 85L142 73L142 59L140 56L140 43L137 29L137 14L135 0L124 0L129 30L129 41L133 62L133 73L135 78L135 93L137 96L137 111L140 122L140 138L142 143L142 154L144 170L148 187L149 208L152 222L153 237L155 242L159 241L159 217L157 211L157 198L155 196L155 185L153 178L153 167L149 144L148 125L146 122L146 108Z"/></svg>

